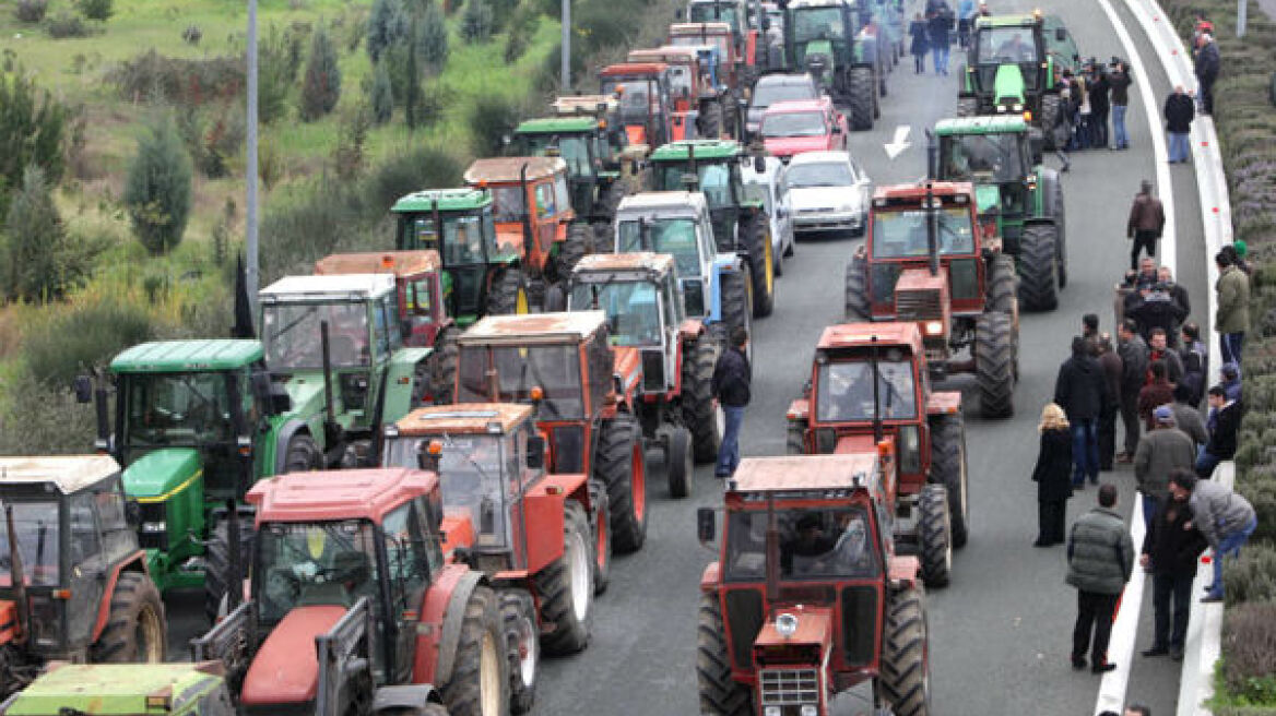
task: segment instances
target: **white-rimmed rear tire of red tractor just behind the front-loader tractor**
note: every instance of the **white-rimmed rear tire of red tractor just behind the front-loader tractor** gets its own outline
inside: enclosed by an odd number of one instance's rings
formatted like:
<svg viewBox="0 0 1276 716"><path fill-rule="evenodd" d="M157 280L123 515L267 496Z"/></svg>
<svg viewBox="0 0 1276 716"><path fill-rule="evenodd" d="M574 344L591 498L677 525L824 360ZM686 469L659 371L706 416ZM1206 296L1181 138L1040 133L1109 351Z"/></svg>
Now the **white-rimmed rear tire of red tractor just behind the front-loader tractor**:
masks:
<svg viewBox="0 0 1276 716"><path fill-rule="evenodd" d="M563 554L532 577L541 595L541 622L554 628L541 637L546 654L575 654L593 628L593 535L579 502L563 510Z"/></svg>

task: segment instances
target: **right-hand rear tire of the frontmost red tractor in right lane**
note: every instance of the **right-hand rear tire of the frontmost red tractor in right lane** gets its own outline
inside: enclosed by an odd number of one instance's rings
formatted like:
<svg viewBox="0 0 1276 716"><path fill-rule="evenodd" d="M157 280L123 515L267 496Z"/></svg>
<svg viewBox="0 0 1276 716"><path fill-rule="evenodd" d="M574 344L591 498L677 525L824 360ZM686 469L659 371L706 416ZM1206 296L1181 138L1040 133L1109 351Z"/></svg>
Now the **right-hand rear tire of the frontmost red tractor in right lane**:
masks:
<svg viewBox="0 0 1276 716"><path fill-rule="evenodd" d="M882 693L897 716L930 716L930 647L925 594L911 586L891 594L882 634Z"/></svg>

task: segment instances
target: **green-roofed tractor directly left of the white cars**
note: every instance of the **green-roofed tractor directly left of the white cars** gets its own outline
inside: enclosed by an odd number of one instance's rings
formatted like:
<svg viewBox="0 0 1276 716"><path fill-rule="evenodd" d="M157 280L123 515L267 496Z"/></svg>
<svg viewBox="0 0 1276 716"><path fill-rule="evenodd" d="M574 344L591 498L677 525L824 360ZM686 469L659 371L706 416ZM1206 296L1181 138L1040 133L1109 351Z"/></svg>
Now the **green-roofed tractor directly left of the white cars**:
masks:
<svg viewBox="0 0 1276 716"><path fill-rule="evenodd" d="M651 155L652 190L704 194L718 252L735 251L749 265L753 315L759 319L769 316L776 304L776 256L767 208L745 191L740 168L762 159L738 141L720 139L675 141ZM764 166L758 171L766 171Z"/></svg>

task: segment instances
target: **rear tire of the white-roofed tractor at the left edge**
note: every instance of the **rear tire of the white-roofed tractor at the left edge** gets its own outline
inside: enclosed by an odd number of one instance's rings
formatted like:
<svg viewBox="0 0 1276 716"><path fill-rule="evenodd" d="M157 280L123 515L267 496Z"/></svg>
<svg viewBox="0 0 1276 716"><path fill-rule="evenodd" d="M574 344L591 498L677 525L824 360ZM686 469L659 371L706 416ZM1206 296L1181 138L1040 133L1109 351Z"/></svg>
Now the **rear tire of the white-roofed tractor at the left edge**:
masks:
<svg viewBox="0 0 1276 716"><path fill-rule="evenodd" d="M142 572L121 572L106 628L89 650L94 664L161 664L168 646L160 590ZM96 606L94 606L96 609Z"/></svg>

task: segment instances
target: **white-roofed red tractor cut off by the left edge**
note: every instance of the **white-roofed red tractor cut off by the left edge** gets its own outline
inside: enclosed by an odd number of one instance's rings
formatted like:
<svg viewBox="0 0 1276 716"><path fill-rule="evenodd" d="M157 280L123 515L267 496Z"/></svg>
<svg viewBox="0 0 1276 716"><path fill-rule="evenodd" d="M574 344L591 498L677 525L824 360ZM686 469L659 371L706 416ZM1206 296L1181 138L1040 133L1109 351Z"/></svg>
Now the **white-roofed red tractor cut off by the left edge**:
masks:
<svg viewBox="0 0 1276 716"><path fill-rule="evenodd" d="M54 660L165 660L165 608L120 474L108 455L0 457L0 697Z"/></svg>

